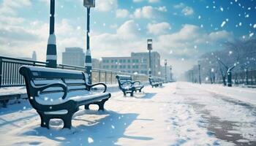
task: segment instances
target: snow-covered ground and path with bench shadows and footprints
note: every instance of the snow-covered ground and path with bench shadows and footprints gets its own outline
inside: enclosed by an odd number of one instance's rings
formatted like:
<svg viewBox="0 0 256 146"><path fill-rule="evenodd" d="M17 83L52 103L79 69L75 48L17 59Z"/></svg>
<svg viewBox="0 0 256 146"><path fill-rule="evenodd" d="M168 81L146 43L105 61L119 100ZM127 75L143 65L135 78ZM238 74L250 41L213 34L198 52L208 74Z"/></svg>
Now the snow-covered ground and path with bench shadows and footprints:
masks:
<svg viewBox="0 0 256 146"><path fill-rule="evenodd" d="M105 112L81 108L71 130L40 128L28 101L1 108L0 145L256 145L256 90L173 82L143 92L113 92Z"/></svg>

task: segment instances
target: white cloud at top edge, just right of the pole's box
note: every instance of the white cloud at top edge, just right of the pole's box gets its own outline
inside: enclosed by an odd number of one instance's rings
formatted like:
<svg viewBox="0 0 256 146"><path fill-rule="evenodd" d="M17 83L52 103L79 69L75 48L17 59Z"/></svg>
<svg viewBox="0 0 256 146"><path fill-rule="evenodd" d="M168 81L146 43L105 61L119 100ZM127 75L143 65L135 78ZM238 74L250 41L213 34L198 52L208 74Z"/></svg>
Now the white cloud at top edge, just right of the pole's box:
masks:
<svg viewBox="0 0 256 146"><path fill-rule="evenodd" d="M117 0L97 0L95 9L99 12L109 12L118 8Z"/></svg>

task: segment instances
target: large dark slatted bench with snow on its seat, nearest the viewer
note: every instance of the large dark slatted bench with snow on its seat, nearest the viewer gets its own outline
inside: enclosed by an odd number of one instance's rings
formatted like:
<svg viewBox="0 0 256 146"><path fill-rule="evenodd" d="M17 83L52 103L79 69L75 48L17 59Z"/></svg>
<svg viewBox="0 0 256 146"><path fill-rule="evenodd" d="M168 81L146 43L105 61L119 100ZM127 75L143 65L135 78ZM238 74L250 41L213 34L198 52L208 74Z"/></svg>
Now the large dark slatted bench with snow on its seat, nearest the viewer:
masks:
<svg viewBox="0 0 256 146"><path fill-rule="evenodd" d="M64 121L64 128L71 128L72 115L84 105L89 110L90 104L97 104L104 110L105 101L111 94L105 93L103 83L88 85L83 72L65 69L50 69L36 66L21 66L20 74L26 82L29 102L41 118L41 126L49 128L49 121L59 118ZM102 93L96 86L102 86Z"/></svg>

